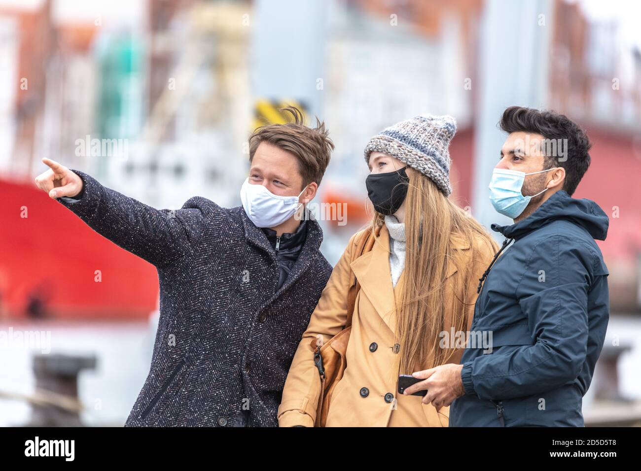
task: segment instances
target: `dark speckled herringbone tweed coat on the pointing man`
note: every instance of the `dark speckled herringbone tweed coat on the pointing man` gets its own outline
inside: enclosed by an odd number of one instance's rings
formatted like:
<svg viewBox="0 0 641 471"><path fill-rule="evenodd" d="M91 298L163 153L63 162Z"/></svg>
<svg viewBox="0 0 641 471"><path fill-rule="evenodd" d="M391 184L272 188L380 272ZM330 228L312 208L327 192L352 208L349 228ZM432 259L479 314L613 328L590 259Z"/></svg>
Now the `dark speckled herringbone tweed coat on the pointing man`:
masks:
<svg viewBox="0 0 641 471"><path fill-rule="evenodd" d="M158 270L160 320L149 376L126 426L277 426L276 411L298 343L331 265L309 220L296 265L277 290L278 262L242 206L192 197L156 210L83 180L79 199L58 199L97 233Z"/></svg>

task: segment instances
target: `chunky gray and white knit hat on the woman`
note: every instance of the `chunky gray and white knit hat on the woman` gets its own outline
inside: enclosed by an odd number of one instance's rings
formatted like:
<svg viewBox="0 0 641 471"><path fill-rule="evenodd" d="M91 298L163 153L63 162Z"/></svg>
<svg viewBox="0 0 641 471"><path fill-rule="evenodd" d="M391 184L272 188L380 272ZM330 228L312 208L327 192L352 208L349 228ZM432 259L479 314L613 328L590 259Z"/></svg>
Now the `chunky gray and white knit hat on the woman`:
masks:
<svg viewBox="0 0 641 471"><path fill-rule="evenodd" d="M397 122L372 137L365 146L365 161L369 165L372 152L390 154L418 170L433 181L445 196L449 184L449 142L456 133L456 120L449 116L420 115Z"/></svg>

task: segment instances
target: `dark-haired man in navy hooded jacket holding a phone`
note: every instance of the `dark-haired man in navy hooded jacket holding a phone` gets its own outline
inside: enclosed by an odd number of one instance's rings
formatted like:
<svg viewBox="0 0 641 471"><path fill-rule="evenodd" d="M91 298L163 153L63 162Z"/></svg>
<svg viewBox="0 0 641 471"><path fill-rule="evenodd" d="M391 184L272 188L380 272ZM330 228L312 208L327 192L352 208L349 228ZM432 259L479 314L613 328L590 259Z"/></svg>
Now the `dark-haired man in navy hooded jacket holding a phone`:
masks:
<svg viewBox="0 0 641 471"><path fill-rule="evenodd" d="M608 269L594 242L606 238L608 217L572 198L590 142L554 112L512 106L500 125L508 137L490 199L514 224L492 225L505 240L479 280L470 331L490 348L469 342L460 365L418 372L424 381L406 393L427 389L434 406L451 404L451 427L583 426L609 317Z"/></svg>

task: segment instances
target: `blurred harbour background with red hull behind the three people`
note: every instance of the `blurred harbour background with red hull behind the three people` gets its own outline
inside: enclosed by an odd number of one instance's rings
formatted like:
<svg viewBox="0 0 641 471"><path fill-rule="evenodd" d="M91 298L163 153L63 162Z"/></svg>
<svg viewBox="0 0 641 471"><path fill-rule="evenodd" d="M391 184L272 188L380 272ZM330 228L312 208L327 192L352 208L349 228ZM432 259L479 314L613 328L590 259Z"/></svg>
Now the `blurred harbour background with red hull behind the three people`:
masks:
<svg viewBox="0 0 641 471"><path fill-rule="evenodd" d="M612 316L584 413L641 424L639 17L590 0L0 0L0 425L75 420L47 408L121 425L155 332L155 269L37 190L40 159L157 208L237 206L247 138L285 104L336 144L317 197L347 204L346 225L321 222L331 263L367 222L363 147L385 126L456 117L452 198L485 226L506 222L487 194L504 108L585 126L575 196L610 216Z"/></svg>

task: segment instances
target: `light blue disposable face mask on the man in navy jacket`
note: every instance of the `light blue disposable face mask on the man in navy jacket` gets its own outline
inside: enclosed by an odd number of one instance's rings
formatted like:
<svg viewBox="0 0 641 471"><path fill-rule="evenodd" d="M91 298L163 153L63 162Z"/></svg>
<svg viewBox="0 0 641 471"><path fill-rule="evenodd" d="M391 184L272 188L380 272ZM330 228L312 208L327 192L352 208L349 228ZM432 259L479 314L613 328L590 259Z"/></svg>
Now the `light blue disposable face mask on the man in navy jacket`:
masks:
<svg viewBox="0 0 641 471"><path fill-rule="evenodd" d="M490 201L497 211L507 217L515 219L528 206L529 200L545 192L538 192L536 195L523 196L521 188L526 175L540 174L549 172L553 169L541 170L540 172L519 172L518 170L494 169L492 180L490 180Z"/></svg>

